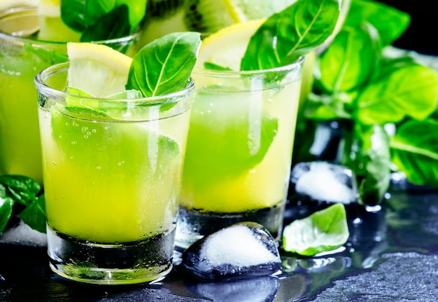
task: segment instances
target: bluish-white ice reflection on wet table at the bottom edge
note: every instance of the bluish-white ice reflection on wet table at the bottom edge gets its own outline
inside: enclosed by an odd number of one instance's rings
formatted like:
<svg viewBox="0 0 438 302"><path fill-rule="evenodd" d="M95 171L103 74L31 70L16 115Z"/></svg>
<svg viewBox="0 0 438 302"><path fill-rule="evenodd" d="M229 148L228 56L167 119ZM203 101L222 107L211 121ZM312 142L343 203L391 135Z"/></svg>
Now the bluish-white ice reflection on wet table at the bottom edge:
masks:
<svg viewBox="0 0 438 302"><path fill-rule="evenodd" d="M215 302L274 301L280 280L277 277L250 277L219 282L185 282L194 294Z"/></svg>

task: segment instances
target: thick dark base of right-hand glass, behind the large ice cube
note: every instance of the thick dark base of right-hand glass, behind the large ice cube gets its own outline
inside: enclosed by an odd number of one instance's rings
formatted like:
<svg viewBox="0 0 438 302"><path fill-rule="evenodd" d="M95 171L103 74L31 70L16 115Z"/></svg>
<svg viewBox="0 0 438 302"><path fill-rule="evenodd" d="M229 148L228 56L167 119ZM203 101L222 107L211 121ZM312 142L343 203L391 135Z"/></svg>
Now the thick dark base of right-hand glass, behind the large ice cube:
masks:
<svg viewBox="0 0 438 302"><path fill-rule="evenodd" d="M283 214L284 203L257 211L236 213L197 212L180 207L175 245L177 248L185 249L205 235L243 221L262 224L276 240L279 240L283 227Z"/></svg>

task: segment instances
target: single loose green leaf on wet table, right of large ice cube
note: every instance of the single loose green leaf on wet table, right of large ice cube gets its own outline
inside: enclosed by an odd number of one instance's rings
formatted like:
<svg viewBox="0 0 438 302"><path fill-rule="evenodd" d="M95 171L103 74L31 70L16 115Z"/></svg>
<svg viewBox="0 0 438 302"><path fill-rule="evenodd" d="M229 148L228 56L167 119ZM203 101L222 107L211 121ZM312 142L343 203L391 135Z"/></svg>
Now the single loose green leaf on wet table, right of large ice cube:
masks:
<svg viewBox="0 0 438 302"><path fill-rule="evenodd" d="M313 256L341 247L349 235L345 207L342 203L335 203L286 226L283 231L283 249L303 256Z"/></svg>

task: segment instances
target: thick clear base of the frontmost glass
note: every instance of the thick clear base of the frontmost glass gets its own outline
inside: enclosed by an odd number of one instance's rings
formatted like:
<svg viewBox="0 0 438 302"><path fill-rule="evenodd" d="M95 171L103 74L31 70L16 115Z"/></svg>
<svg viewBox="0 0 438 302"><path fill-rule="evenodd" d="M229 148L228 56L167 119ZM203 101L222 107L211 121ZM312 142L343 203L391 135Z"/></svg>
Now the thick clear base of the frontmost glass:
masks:
<svg viewBox="0 0 438 302"><path fill-rule="evenodd" d="M136 284L162 279L172 269L175 229L146 240L98 244L47 228L50 268L70 280Z"/></svg>

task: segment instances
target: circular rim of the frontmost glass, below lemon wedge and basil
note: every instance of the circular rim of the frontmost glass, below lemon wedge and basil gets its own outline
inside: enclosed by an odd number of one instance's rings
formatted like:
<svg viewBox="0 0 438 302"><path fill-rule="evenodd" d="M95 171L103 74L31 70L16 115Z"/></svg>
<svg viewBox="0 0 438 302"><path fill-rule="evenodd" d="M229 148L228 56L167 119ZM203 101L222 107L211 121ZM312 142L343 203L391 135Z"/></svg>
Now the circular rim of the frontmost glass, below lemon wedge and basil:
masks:
<svg viewBox="0 0 438 302"><path fill-rule="evenodd" d="M80 97L81 99L92 99L92 100L101 100L104 102L125 102L125 103L136 103L136 102L150 102L150 104L160 105L165 102L167 102L167 99L175 98L175 97L182 97L183 95L186 95L190 92L193 92L195 90L195 81L193 81L193 78L189 78L188 84L183 88L182 90L171 92L166 95L156 95L153 97L140 97L140 98L113 98L113 97L87 97L87 96L81 96L81 95L74 95L69 92L66 92L65 90L57 90L56 88L52 88L50 85L47 85L45 83L45 80L54 74L61 73L61 72L67 72L69 68L70 62L63 62L59 64L52 65L50 67L47 67L36 74L34 78L34 83L36 85L36 88L38 92L43 92L44 95L48 95L52 97L53 99L57 99L57 101L65 102L66 96L71 97ZM64 101L63 101L64 100Z"/></svg>

